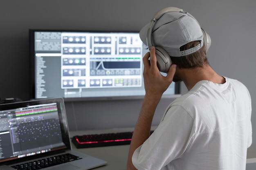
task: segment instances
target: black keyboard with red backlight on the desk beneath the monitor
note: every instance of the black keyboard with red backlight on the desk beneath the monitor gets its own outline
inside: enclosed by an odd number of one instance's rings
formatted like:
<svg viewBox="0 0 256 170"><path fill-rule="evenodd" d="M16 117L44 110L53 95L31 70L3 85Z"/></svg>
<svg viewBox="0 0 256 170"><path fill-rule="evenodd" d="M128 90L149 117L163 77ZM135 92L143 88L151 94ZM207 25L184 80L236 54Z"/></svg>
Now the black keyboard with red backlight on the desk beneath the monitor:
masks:
<svg viewBox="0 0 256 170"><path fill-rule="evenodd" d="M153 133L151 131L150 133ZM133 132L103 133L92 135L76 135L72 142L76 148L91 148L130 144Z"/></svg>

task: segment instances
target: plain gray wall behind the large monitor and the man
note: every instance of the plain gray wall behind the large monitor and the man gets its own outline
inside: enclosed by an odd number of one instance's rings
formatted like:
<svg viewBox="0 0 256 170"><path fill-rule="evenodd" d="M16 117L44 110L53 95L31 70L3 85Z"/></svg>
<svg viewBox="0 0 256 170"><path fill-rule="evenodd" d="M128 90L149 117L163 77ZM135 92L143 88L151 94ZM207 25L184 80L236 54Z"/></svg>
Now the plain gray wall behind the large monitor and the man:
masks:
<svg viewBox="0 0 256 170"><path fill-rule="evenodd" d="M191 13L211 36L207 56L213 69L248 87L256 143L255 0L1 0L0 97L29 99L29 28L139 31L171 6ZM171 101L161 100L153 124ZM134 126L141 102L66 102L70 130Z"/></svg>

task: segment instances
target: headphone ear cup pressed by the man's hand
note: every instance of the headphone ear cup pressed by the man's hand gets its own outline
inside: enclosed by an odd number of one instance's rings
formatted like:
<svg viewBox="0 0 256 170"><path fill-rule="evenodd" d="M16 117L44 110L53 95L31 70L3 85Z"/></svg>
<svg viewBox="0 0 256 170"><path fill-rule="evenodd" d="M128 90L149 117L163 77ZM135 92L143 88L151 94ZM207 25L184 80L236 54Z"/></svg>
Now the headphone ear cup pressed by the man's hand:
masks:
<svg viewBox="0 0 256 170"><path fill-rule="evenodd" d="M162 47L155 47L157 67L160 72L167 73L172 65L171 57Z"/></svg>

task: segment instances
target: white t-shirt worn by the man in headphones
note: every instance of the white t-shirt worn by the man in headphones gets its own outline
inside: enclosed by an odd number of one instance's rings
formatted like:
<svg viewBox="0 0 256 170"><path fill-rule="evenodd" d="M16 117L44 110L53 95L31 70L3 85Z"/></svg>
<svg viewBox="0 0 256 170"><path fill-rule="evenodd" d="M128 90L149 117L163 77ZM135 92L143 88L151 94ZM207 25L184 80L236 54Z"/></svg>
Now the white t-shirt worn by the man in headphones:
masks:
<svg viewBox="0 0 256 170"><path fill-rule="evenodd" d="M251 98L234 79L198 82L174 100L137 148L138 170L245 170L252 144Z"/></svg>

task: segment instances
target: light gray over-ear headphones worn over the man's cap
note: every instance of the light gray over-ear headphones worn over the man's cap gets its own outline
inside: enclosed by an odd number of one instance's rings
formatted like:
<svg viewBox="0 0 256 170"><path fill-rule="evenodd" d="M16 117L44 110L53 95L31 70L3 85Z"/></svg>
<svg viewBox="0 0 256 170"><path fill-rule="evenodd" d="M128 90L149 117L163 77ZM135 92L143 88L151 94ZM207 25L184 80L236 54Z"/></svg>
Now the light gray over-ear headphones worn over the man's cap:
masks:
<svg viewBox="0 0 256 170"><path fill-rule="evenodd" d="M149 50L153 46L152 32L153 32L153 27L155 25L155 22L157 20L159 20L159 18L162 17L162 15L164 15L165 13L168 13L168 12L186 13L187 15L189 15L190 17L195 19L195 17L193 17L191 14L187 13L186 11L183 11L182 9L176 8L176 7L167 7L167 8L164 8L164 9L158 11L152 18L152 20L150 22L150 26L147 31L146 41L147 41L147 46L148 46ZM196 19L195 19L195 21L198 22ZM211 46L211 37L202 28L201 28L201 30L202 30L203 37L204 37L204 46L207 51L209 49L209 47ZM172 65L172 61L171 61L169 54L166 52L166 50L164 50L162 47L159 47L159 46L155 47L155 54L157 57L157 67L159 68L159 71L160 72L168 72L169 68Z"/></svg>

